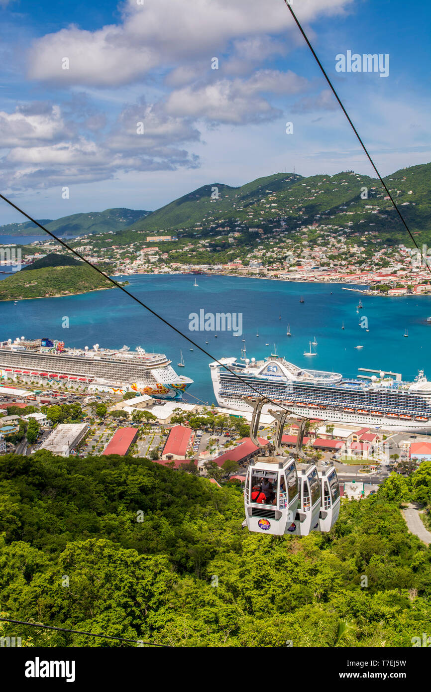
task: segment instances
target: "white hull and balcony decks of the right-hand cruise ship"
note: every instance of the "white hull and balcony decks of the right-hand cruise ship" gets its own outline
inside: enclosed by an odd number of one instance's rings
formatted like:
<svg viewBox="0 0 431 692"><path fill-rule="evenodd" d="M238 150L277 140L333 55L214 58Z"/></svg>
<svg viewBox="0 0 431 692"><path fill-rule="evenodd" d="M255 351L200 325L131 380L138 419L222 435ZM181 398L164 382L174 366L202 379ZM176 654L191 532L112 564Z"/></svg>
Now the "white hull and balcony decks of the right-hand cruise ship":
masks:
<svg viewBox="0 0 431 692"><path fill-rule="evenodd" d="M264 363L265 375L259 376L257 364L252 367L240 366L236 370L233 358L226 358L229 370L211 363L212 385L217 403L222 408L244 410L253 409L244 400L244 396L255 397L257 392L270 398L274 403L265 404L262 408L268 413L272 408L287 408L293 415L322 421L322 424L340 425L342 423L384 428L399 432L431 432L431 403L429 397L421 397L412 392L399 393L392 389L378 390L371 385L358 381L335 381L324 383L324 377L331 378L331 373L322 373L321 381L309 383L289 381L286 369L280 368L280 361L268 359ZM283 366L284 361L282 361ZM268 368L269 365L269 368ZM288 364L287 365L291 365ZM271 376L268 370L277 367L279 374ZM233 372L236 370L242 382ZM300 371L302 374L307 371ZM308 371L316 372L316 371ZM275 379L278 377L278 379ZM341 376L340 376L341 377ZM334 378L335 379L335 378ZM253 388L253 389L252 389ZM431 390L430 390L431 392ZM336 403L334 400L338 399Z"/></svg>

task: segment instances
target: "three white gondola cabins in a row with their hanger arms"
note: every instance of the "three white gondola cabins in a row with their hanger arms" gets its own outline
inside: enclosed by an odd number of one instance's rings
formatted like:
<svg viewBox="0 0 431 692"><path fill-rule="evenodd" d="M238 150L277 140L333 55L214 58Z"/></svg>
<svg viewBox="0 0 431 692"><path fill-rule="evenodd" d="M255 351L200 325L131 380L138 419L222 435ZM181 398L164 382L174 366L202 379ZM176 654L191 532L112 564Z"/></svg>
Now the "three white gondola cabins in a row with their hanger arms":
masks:
<svg viewBox="0 0 431 692"><path fill-rule="evenodd" d="M253 406L250 438L257 439L263 397L244 397ZM314 463L302 457L301 447L307 419L302 419L297 435L295 455L281 448L283 428L290 411L270 410L277 420L274 443L269 454L252 459L244 487L246 518L243 527L257 533L282 536L308 536L311 531L329 531L340 512L340 485L333 466L318 471ZM304 462L304 463L302 463Z"/></svg>

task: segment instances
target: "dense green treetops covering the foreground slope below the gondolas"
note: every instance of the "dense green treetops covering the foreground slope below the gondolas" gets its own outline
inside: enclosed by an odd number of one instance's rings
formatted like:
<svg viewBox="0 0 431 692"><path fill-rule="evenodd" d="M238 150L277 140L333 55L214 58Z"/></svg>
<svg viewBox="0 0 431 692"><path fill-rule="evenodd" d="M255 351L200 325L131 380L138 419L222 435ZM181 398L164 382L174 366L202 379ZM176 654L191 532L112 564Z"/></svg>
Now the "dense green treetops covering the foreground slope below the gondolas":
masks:
<svg viewBox="0 0 431 692"><path fill-rule="evenodd" d="M271 537L241 530L237 486L132 457L5 455L0 610L174 646L410 647L431 577L398 509L409 496L430 502L431 462L342 500L330 534ZM119 646L21 630L36 646Z"/></svg>

